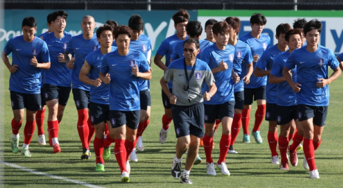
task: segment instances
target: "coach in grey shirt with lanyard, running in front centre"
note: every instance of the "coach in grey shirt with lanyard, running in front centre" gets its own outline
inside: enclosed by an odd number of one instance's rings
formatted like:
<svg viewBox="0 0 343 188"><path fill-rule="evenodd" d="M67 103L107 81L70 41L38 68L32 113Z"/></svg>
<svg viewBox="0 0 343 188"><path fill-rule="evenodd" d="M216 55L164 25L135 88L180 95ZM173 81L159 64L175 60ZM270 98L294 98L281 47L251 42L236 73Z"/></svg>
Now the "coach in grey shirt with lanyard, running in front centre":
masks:
<svg viewBox="0 0 343 188"><path fill-rule="evenodd" d="M176 155L172 163L172 176L180 177L180 182L192 184L189 173L199 151L200 137L203 137L204 107L203 100L211 100L217 87L213 74L206 64L196 56L200 43L195 39L187 39L183 46L184 58L173 61L161 78L161 87L169 96L172 104L174 129L177 138ZM186 77L186 78L185 78ZM171 93L167 83L172 81ZM202 92L203 83L208 92ZM181 174L182 155L188 151L186 166Z"/></svg>

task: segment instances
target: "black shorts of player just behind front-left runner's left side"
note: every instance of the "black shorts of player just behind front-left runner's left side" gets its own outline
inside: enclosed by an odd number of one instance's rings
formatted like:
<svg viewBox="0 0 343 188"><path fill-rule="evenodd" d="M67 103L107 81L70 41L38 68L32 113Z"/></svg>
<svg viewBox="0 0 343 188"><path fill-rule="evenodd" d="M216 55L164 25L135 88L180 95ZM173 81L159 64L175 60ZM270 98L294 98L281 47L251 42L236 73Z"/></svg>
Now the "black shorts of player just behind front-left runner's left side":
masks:
<svg viewBox="0 0 343 188"><path fill-rule="evenodd" d="M109 121L109 105L89 102L89 114L93 125Z"/></svg>

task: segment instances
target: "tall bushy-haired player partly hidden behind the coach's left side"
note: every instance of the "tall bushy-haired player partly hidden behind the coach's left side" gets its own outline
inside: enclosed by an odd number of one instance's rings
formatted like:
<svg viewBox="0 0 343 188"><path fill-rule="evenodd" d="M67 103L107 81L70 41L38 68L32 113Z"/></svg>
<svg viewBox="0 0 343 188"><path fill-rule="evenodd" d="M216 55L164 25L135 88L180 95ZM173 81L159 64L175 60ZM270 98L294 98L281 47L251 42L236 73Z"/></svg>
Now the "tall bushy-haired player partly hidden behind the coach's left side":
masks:
<svg viewBox="0 0 343 188"><path fill-rule="evenodd" d="M189 14L186 10L181 9L177 13L172 16L172 20L174 20L174 28L176 29L176 33L164 41L162 41L161 45L158 47L156 52L156 56L154 58L154 63L163 71L167 70L167 67L170 64L172 50L174 45L179 42L187 39L186 33L186 25L189 20ZM165 56L166 62L165 64L161 61L161 59ZM168 84L170 92L172 93L172 83ZM164 106L165 114L162 116L162 128L159 133L159 142L164 144L167 140L169 124L172 122L172 105L169 102L168 95L166 95L162 91L162 102Z"/></svg>

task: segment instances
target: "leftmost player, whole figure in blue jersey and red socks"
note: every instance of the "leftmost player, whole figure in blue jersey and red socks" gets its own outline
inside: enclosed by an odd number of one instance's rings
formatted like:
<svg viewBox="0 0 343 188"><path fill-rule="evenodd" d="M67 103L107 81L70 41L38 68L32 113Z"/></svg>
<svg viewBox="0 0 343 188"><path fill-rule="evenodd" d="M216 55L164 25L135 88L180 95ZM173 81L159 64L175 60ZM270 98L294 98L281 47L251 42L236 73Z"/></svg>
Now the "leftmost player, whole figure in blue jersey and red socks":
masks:
<svg viewBox="0 0 343 188"><path fill-rule="evenodd" d="M1 58L11 72L10 94L13 110L11 150L19 151L19 129L24 119L26 108L26 124L24 129L24 144L21 155L31 157L29 145L35 127L35 116L41 108L41 72L50 68L50 58L47 43L35 37L36 19L25 17L21 29L23 34L11 38L2 51ZM8 55L12 53L12 64Z"/></svg>

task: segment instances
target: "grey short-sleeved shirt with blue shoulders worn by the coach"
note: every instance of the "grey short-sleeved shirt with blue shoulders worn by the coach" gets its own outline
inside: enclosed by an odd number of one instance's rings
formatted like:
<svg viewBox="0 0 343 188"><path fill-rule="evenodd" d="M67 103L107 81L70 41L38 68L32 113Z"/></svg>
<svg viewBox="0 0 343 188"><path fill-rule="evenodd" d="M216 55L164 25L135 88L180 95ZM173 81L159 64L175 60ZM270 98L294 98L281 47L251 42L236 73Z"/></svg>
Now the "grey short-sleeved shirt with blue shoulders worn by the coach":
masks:
<svg viewBox="0 0 343 188"><path fill-rule="evenodd" d="M187 84L184 67L185 58L174 60L166 72L164 72L164 79L166 82L172 81L172 94L177 97L175 105L190 106L199 102L203 102L203 83L211 86L215 80L211 69L206 62L196 59L194 73L189 80L189 88L185 91L184 86ZM187 75L192 72L193 66L186 65ZM190 100L190 102L188 101ZM211 98L212 100L212 98Z"/></svg>

